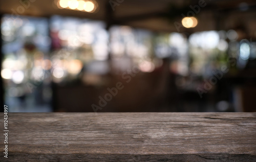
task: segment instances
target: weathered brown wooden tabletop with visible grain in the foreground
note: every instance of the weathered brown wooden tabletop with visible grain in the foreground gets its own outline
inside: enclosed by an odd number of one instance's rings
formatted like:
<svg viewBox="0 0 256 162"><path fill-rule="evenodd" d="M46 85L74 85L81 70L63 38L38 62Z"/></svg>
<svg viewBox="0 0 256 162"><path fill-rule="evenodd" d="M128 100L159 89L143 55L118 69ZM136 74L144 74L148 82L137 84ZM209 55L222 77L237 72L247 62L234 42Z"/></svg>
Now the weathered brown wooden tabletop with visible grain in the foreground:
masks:
<svg viewBox="0 0 256 162"><path fill-rule="evenodd" d="M0 161L256 161L256 113L8 115Z"/></svg>

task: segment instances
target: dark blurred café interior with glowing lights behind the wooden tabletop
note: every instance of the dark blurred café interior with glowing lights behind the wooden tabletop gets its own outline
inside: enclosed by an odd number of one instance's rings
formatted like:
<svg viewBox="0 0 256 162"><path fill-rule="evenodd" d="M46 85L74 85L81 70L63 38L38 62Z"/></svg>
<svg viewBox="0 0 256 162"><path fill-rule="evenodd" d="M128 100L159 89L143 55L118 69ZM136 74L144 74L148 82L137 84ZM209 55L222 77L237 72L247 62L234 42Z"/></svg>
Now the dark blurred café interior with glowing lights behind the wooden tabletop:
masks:
<svg viewBox="0 0 256 162"><path fill-rule="evenodd" d="M0 1L9 112L255 112L256 1Z"/></svg>

